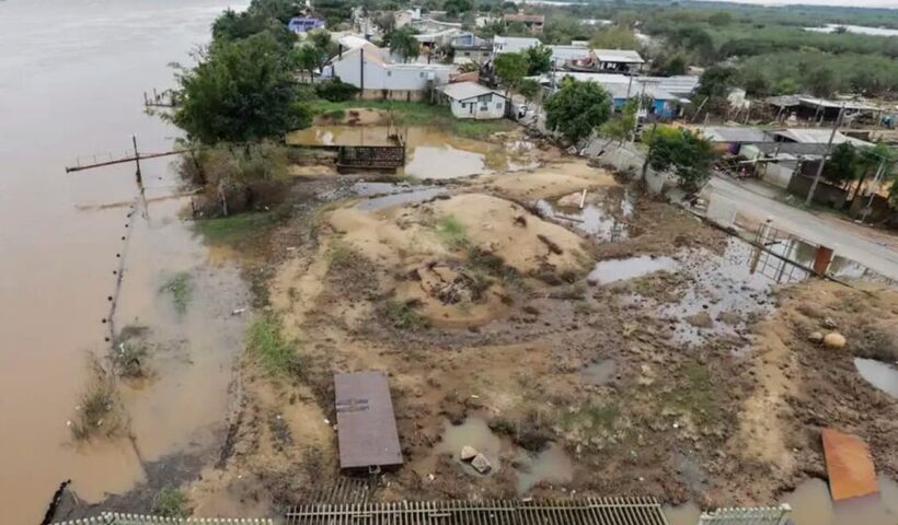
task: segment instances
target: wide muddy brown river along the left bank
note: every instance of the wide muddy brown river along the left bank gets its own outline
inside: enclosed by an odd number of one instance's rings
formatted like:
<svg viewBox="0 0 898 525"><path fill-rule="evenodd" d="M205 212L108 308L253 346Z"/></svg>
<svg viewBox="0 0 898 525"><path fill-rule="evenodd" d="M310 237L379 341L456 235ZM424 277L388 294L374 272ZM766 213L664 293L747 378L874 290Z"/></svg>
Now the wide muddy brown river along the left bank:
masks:
<svg viewBox="0 0 898 525"><path fill-rule="evenodd" d="M131 210L139 217L116 320L148 326L154 343L152 377L122 392L137 450L154 460L220 433L242 337L230 312L247 301L235 266L177 218L183 199L164 198L175 191L168 161L143 166L151 199L145 210L131 208L131 165L70 175L64 167L79 158L123 155L131 133L143 152L169 149L176 130L143 114L142 93L171 85L168 63L186 61L229 3L243 7L227 0L0 1L3 523L39 523L65 479L96 501L141 478L130 443L74 444L67 427L88 378L88 352L107 348L101 319ZM163 290L179 272L193 289L185 312Z"/></svg>

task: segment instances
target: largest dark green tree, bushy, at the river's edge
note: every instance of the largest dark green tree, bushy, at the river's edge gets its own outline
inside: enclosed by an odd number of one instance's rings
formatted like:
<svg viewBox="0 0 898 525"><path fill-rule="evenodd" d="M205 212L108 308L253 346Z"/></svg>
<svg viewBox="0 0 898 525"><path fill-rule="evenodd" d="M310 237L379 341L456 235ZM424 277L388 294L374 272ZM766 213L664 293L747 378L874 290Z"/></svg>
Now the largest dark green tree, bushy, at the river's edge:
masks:
<svg viewBox="0 0 898 525"><path fill-rule="evenodd" d="M191 139L242 142L306 127L288 60L269 33L214 44L199 62L176 75L174 124Z"/></svg>

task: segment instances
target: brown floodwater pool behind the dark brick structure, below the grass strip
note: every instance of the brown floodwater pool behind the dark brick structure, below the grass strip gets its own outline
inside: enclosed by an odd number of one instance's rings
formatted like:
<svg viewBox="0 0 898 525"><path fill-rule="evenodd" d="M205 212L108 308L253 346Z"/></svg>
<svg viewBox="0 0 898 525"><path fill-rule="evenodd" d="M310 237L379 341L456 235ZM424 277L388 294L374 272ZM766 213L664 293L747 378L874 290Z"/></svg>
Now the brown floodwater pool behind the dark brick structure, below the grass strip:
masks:
<svg viewBox="0 0 898 525"><path fill-rule="evenodd" d="M315 126L293 131L287 140L299 145L390 145L388 137L396 131L406 144L405 167L400 173L421 179L459 178L537 165L529 159L528 142L497 144L424 126Z"/></svg>

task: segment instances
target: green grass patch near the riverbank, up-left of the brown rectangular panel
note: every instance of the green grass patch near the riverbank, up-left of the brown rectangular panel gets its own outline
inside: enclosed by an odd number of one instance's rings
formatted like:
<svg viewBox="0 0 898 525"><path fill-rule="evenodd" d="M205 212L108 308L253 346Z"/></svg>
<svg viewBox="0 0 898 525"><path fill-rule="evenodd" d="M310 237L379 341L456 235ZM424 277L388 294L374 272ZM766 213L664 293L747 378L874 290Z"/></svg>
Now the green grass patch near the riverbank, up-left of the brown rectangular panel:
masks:
<svg viewBox="0 0 898 525"><path fill-rule="evenodd" d="M267 373L302 375L299 342L284 335L280 319L274 314L266 313L253 320L246 330L246 347Z"/></svg>

